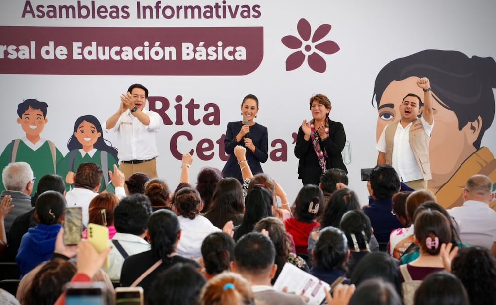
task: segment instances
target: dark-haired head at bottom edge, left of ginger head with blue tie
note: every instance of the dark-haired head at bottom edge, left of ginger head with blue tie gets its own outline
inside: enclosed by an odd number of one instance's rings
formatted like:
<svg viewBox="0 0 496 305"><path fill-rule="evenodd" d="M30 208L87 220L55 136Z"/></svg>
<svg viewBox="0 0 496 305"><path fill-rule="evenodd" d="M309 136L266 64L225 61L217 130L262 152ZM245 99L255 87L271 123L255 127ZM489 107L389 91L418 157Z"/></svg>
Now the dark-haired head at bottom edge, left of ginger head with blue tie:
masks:
<svg viewBox="0 0 496 305"><path fill-rule="evenodd" d="M191 264L177 263L160 273L147 292L148 305L196 305L205 279Z"/></svg>

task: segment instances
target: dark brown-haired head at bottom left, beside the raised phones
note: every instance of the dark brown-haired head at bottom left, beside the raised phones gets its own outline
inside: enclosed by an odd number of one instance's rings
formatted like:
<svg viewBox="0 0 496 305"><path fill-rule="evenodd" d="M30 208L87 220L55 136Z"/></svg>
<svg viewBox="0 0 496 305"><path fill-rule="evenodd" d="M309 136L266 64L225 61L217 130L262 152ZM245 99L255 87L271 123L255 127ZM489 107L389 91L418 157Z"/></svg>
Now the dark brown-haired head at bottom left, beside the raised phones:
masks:
<svg viewBox="0 0 496 305"><path fill-rule="evenodd" d="M36 274L25 295L25 305L52 305L63 292L63 286L76 274L74 263L55 258L49 260Z"/></svg>

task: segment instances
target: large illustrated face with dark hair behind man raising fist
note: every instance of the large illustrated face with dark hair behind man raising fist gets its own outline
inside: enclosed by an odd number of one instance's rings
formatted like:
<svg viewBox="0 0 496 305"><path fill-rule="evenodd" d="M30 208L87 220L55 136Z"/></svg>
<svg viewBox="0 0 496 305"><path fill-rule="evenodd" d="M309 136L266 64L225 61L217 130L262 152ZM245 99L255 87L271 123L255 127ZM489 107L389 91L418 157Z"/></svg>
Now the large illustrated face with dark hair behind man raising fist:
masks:
<svg viewBox="0 0 496 305"><path fill-rule="evenodd" d="M375 79L376 139L387 124L401 118L399 106L407 94L423 99L416 85L419 77L428 77L432 84L436 127L430 145L433 179L428 187L437 202L446 208L462 205L465 183L475 174L489 176L495 191L496 159L481 146L495 115L494 58L424 50L389 62Z"/></svg>

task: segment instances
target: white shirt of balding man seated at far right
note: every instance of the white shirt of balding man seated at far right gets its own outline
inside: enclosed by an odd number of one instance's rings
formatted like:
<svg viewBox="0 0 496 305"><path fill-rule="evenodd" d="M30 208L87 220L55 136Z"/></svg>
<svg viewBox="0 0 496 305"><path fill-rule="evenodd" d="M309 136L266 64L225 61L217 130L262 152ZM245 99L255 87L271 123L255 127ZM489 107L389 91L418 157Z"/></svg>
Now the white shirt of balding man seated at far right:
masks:
<svg viewBox="0 0 496 305"><path fill-rule="evenodd" d="M462 242L491 250L496 235L496 211L487 203L467 200L462 206L448 209L460 226Z"/></svg>

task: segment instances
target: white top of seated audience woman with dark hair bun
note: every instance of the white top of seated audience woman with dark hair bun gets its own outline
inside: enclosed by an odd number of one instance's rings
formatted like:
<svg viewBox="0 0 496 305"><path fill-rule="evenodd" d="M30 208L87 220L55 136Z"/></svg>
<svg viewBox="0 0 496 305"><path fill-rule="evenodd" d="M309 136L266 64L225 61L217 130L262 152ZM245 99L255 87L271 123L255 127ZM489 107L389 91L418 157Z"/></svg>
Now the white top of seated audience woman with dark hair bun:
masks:
<svg viewBox="0 0 496 305"><path fill-rule="evenodd" d="M178 216L178 218L181 225L181 239L176 253L186 258L194 256L196 260L201 256L201 243L205 237L221 230L201 215L196 215L193 220L183 216Z"/></svg>

